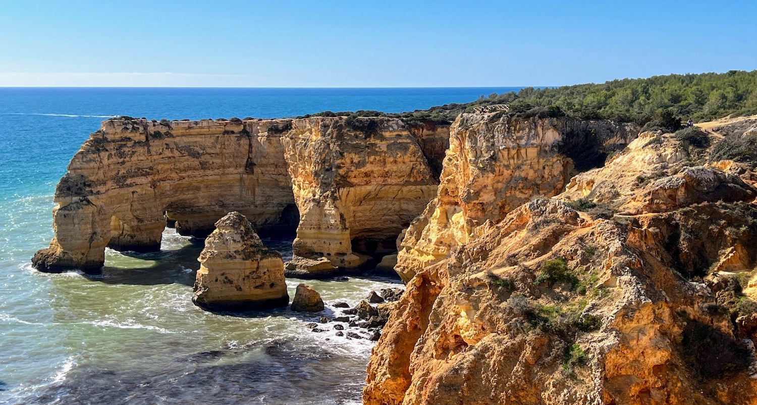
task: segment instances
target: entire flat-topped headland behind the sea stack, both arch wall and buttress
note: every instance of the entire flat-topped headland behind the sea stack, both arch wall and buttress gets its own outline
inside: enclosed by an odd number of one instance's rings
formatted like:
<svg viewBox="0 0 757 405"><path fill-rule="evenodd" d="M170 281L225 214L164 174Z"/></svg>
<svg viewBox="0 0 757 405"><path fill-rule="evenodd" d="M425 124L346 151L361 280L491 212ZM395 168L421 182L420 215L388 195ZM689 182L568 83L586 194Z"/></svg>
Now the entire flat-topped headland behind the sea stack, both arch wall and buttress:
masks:
<svg viewBox="0 0 757 405"><path fill-rule="evenodd" d="M358 267L366 256L353 245L394 253L435 193L429 162L446 130L411 133L389 118L106 120L58 184L55 238L33 264L96 270L106 247L159 250L167 221L204 237L238 211L261 234L299 227L295 273Z"/></svg>

